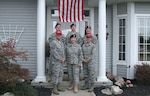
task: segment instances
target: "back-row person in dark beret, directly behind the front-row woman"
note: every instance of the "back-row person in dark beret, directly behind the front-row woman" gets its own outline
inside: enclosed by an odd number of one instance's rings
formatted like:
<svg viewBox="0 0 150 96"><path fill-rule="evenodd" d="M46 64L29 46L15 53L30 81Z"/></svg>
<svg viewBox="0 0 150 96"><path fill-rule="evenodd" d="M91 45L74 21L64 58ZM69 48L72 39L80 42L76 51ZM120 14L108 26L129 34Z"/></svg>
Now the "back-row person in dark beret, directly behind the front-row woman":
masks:
<svg viewBox="0 0 150 96"><path fill-rule="evenodd" d="M76 32L76 25L71 24L70 28L71 28L71 32L68 32L67 35L66 35L66 44L71 43L70 36L75 34L76 35L76 43L79 44L79 45L82 45L82 43L83 43L82 42L82 37L78 32Z"/></svg>

